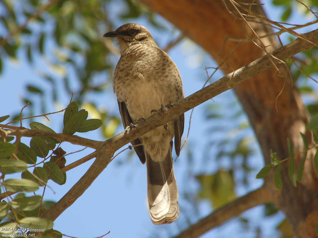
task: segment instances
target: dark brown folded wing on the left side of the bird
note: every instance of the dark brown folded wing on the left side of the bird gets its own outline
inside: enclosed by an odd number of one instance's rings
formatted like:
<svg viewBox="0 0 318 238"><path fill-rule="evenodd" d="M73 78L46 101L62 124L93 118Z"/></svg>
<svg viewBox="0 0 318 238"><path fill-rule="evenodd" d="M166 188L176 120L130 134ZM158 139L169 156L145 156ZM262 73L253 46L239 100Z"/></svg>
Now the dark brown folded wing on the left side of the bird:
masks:
<svg viewBox="0 0 318 238"><path fill-rule="evenodd" d="M117 102L118 102L118 107L119 107L119 113L121 115L122 124L124 125L124 128L126 128L130 125L130 123L134 123L134 122L128 113L125 102L123 102L123 101L120 102L118 100L117 100ZM141 144L141 143L142 142L139 138L137 138L131 142L132 145L137 145L137 144ZM144 164L146 162L146 157L145 157L145 152L143 150L143 146L142 145L134 146L134 149L135 149L136 154L138 155L140 161L142 162L142 164Z"/></svg>

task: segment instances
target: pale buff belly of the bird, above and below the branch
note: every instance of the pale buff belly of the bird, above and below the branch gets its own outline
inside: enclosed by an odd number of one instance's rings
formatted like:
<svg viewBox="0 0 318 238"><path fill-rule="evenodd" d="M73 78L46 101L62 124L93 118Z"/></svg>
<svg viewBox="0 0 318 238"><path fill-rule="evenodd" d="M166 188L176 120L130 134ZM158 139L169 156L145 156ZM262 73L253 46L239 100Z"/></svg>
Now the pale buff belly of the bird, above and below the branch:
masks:
<svg viewBox="0 0 318 238"><path fill-rule="evenodd" d="M161 105L176 102L176 93L173 93L172 85L164 80L150 82L147 78L126 81L123 85L126 94L120 101L125 101L129 115L135 122L140 118L148 118L151 111L160 109ZM158 162L165 159L170 142L174 136L173 122L168 127L160 126L141 136L144 149L152 160Z"/></svg>

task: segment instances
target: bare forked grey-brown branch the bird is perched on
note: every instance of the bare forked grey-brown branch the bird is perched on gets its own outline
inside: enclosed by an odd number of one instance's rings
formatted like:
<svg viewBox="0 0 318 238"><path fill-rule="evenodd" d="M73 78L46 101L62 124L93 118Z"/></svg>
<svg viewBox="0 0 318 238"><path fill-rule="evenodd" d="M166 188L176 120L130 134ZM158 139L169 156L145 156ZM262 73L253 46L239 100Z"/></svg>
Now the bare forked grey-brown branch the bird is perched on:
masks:
<svg viewBox="0 0 318 238"><path fill-rule="evenodd" d="M275 64L281 62L281 60L286 60L293 55L300 53L304 50L311 49L314 44L318 43L318 29L306 34L302 34L304 39L295 39L293 42L282 46L281 48L275 50L271 53L273 61ZM44 218L54 221L67 207L71 206L74 201L79 198L85 190L91 185L95 178L107 167L111 158L114 155L114 152L120 149L125 144L134 140L137 137L142 136L148 131L166 124L170 120L174 119L177 115L180 115L191 108L194 108L201 103L208 101L209 99L221 94L231 88L234 88L239 83L251 78L252 76L266 70L267 68L273 66L271 60L267 55L249 63L248 65L241 67L234 72L225 75L218 81L210 84L209 86L197 91L194 94L184 98L181 101L176 102L171 108L164 108L161 112L160 110L154 115L150 116L143 122L136 124L136 128L130 130L128 134L124 132L108 139L105 142L92 141L89 144L92 146L98 145L96 150L96 159L86 173L79 179L79 181L73 185L73 187L54 205L49 209L44 215ZM11 135L28 135L28 132L31 130L23 129L21 131L12 131ZM39 131L38 131L39 132ZM48 133L47 131L41 131L41 135ZM29 134L30 136L30 134ZM50 134L50 137L61 139L61 134ZM64 137L63 141L69 141L74 143L74 138L81 137L71 136ZM82 138L85 139L85 138ZM85 139L87 140L87 139ZM85 146L89 146L87 143ZM94 147L93 147L94 148ZM95 147L96 148L96 147ZM244 202L240 199L239 201ZM257 204L256 204L257 205ZM254 205L255 206L255 205Z"/></svg>

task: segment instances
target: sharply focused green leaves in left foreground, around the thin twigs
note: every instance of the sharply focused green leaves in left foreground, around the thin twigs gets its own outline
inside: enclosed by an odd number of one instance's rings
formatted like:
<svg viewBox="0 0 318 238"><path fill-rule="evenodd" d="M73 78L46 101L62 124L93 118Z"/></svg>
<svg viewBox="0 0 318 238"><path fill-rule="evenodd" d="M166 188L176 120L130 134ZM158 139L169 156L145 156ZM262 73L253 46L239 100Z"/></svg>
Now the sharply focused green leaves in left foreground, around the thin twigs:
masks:
<svg viewBox="0 0 318 238"><path fill-rule="evenodd" d="M63 133L73 135L75 132L87 132L98 129L100 119L87 119L88 112L79 110L76 102L71 102L65 109ZM9 118L9 115L0 117L0 122ZM5 128L5 125L2 125ZM55 133L54 130L40 122L31 122L30 128ZM40 131L39 131L40 132ZM47 231L48 236L62 237L58 231L52 230L53 222L41 216L55 202L44 201L42 195L35 192L40 187L45 188L48 180L63 185L66 183L66 173L61 171L65 166L66 152L61 148L57 139L40 135L32 136L29 145L20 141L20 136L4 136L0 140L0 172L1 196L8 201L0 203L0 233L16 234L23 230L18 228L39 229ZM57 148L56 148L57 147ZM50 153L51 151L51 153ZM38 162L38 158L43 158ZM33 171L30 170L33 168ZM21 178L5 179L7 174L20 173ZM14 199L11 194L18 193ZM26 196L24 192L34 192L34 196Z"/></svg>

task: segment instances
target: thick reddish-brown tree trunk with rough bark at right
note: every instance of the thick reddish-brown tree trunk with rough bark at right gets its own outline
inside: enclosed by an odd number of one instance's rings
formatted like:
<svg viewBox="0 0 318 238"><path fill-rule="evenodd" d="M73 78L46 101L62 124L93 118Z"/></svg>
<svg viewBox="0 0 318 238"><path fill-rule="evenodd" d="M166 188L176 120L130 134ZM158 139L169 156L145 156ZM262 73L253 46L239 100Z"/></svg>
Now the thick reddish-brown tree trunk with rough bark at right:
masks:
<svg viewBox="0 0 318 238"><path fill-rule="evenodd" d="M202 46L219 64L226 61L228 67L223 69L225 74L265 54L252 42L241 43L238 46L238 42L225 41L226 37L245 39L246 33L250 37L255 35L242 20L235 19L226 10L221 0L141 0L141 2ZM230 10L235 11L231 3L225 2ZM265 15L261 6L254 6L252 10ZM251 23L251 26L260 36L272 32L270 27L262 24ZM276 42L273 38L264 38L262 41L266 46ZM279 43L266 49L270 52L277 47ZM230 54L231 56L228 57ZM226 65L224 64L223 67ZM295 153L304 150L300 132L306 134L309 142L312 143L312 136L306 131L308 123L306 108L297 88L291 84L285 66L280 65L279 69L280 72L271 67L234 88L255 131L266 164L270 163L270 149L277 152L280 158L288 157L287 137L294 144ZM286 85L280 94L284 82ZM275 101L279 94L276 111ZM298 237L314 237L318 221L318 179L312 162L314 152L313 150L308 152L303 180L296 188L287 175L288 163L284 163L286 166L282 168L281 191L275 190L272 176L265 181L272 187L273 203L286 214ZM301 158L295 159L297 168Z"/></svg>

